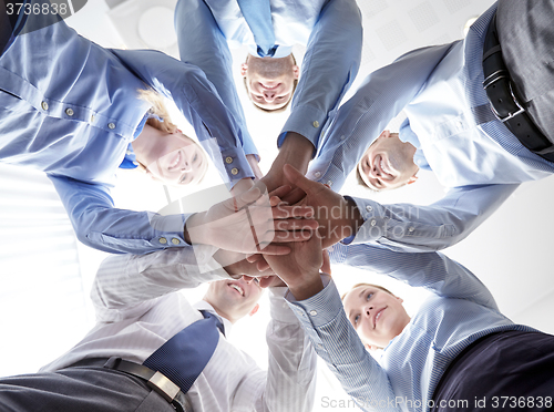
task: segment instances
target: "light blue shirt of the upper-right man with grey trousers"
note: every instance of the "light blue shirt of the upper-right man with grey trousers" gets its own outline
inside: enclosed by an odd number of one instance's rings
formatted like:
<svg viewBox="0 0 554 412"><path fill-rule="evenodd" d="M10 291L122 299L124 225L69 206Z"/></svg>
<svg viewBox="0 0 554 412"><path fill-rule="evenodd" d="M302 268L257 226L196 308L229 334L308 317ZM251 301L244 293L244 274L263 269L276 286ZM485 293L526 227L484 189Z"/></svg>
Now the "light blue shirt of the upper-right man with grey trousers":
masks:
<svg viewBox="0 0 554 412"><path fill-rule="evenodd" d="M414 162L452 188L430 206L355 198L365 227L355 243L437 250L468 236L517 187L550 176L554 164L531 153L493 115L483 90L482 54L495 6L452 44L412 51L370 74L334 119L308 177L339 190L369 145L402 110L400 138Z"/></svg>

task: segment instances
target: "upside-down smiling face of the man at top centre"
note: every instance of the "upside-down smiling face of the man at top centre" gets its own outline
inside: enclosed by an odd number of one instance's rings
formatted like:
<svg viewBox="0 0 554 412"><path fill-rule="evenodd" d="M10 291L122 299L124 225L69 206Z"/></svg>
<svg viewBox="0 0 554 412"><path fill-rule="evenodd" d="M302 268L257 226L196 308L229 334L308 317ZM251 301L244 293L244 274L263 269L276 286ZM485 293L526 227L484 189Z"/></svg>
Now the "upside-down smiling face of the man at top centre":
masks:
<svg viewBox="0 0 554 412"><path fill-rule="evenodd" d="M248 55L240 73L253 103L273 111L286 106L293 97L299 69L293 54L281 59Z"/></svg>

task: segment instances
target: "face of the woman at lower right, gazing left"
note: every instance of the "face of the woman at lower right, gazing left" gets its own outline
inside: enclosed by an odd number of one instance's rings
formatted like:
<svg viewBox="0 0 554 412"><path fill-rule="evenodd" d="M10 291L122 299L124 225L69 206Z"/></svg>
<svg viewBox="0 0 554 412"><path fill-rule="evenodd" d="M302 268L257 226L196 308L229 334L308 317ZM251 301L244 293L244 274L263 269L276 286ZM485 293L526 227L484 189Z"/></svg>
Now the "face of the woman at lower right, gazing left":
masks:
<svg viewBox="0 0 554 412"><path fill-rule="evenodd" d="M371 285L350 290L343 303L350 323L369 349L384 348L410 322L402 299Z"/></svg>

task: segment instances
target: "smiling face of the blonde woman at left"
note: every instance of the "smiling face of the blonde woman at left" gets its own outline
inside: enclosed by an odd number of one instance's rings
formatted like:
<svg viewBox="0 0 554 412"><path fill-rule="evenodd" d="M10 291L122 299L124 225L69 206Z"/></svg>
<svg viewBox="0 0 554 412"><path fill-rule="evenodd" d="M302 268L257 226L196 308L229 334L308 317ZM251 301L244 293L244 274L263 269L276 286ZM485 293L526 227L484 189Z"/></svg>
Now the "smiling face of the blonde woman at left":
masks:
<svg viewBox="0 0 554 412"><path fill-rule="evenodd" d="M166 133L146 124L133 142L133 148L147 173L165 184L197 183L207 171L208 161L203 150L179 130Z"/></svg>

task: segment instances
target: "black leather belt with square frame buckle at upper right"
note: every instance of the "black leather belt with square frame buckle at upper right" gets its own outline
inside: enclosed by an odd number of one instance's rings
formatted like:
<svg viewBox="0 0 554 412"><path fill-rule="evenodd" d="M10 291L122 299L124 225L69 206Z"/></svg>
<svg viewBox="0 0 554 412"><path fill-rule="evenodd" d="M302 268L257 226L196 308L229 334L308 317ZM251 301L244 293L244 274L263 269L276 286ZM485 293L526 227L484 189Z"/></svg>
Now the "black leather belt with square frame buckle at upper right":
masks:
<svg viewBox="0 0 554 412"><path fill-rule="evenodd" d="M531 152L554 162L554 145L530 117L513 87L512 79L502 59L496 31L496 14L489 24L483 45L483 87L497 120Z"/></svg>

